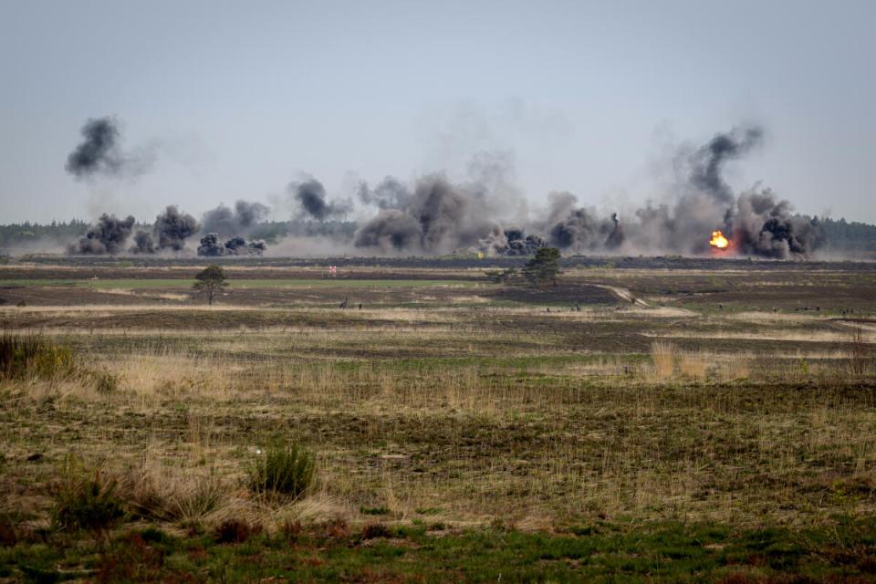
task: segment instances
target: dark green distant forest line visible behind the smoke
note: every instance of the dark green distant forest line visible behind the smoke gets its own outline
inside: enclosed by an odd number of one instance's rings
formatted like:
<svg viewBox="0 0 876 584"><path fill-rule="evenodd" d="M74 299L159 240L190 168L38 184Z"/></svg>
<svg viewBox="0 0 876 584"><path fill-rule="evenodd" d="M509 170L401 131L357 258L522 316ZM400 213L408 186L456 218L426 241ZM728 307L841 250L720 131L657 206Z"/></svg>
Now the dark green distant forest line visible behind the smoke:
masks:
<svg viewBox="0 0 876 584"><path fill-rule="evenodd" d="M809 220L807 216L804 217ZM876 225L819 217L814 217L811 221L821 230L818 249L876 252ZM138 226L147 229L150 227L148 224ZM289 236L323 236L343 240L352 238L356 227L357 224L352 221L266 221L253 225L245 234L228 236L244 235L248 239L264 239L268 244L276 244ZM36 251L41 246L66 246L79 236L85 235L88 228L88 222L78 219L68 223L53 221L50 224L25 222L0 225L0 250L33 246Z"/></svg>

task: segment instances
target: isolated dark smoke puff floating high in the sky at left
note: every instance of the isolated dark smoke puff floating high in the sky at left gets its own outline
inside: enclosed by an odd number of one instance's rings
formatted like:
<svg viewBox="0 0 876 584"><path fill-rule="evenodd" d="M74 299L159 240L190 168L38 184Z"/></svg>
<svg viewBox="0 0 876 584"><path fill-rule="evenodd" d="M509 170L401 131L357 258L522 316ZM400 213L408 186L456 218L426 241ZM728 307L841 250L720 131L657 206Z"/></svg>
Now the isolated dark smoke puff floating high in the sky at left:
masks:
<svg viewBox="0 0 876 584"><path fill-rule="evenodd" d="M154 154L121 150L118 122L110 117L89 119L81 130L83 141L70 152L65 169L77 179L97 175L137 176L147 172Z"/></svg>

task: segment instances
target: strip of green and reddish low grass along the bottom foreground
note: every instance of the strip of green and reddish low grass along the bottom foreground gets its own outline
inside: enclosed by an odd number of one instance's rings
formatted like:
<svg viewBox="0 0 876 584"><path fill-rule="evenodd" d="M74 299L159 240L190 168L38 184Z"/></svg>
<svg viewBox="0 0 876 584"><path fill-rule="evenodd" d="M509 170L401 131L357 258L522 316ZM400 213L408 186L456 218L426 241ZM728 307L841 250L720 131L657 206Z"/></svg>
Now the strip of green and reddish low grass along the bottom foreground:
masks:
<svg viewBox="0 0 876 584"><path fill-rule="evenodd" d="M600 522L568 533L469 529L435 537L423 527L325 524L248 537L171 537L121 531L107 546L69 534L52 545L0 548L5 576L170 581L186 574L227 582L284 581L869 581L872 519L805 530L736 530L721 524ZM76 566L78 569L71 569ZM795 577L795 578L792 578Z"/></svg>

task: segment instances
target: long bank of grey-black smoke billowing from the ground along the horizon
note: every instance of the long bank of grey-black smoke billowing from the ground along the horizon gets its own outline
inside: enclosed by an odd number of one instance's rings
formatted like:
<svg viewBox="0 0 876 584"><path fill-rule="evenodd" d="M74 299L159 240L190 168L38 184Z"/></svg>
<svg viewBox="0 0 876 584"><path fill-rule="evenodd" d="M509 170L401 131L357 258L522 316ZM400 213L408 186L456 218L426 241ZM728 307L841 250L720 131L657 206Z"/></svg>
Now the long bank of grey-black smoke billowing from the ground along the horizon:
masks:
<svg viewBox="0 0 876 584"><path fill-rule="evenodd" d="M769 189L756 186L735 193L725 180L728 164L756 148L763 134L757 126L735 128L716 134L699 148L679 151L673 158L677 173L672 193L638 209L625 208L623 221L617 213L579 203L572 193L549 194L537 213L515 212L521 193L515 185L513 157L491 152L475 156L467 178L459 182L433 173L412 184L391 176L373 189L360 183L358 201L374 214L360 222L352 235L350 224L332 221L346 214L351 202L329 201L321 183L304 177L289 184L288 193L299 217L317 221L300 222L308 229L290 235L318 235L334 249L346 251L352 244L365 253L391 255L456 250L532 255L547 245L573 254L699 255L710 252L709 235L720 228L731 240L729 250L722 253L807 257L819 244L817 223L793 214L790 204ZM267 212L265 205L245 201L235 203L234 209L220 205L207 212L198 255L263 254L264 242L247 243L243 235ZM118 252L130 237L133 219L127 222L104 215L101 226L89 230L75 253ZM191 215L169 206L151 234L141 231L134 237L130 252L179 251L199 231Z"/></svg>

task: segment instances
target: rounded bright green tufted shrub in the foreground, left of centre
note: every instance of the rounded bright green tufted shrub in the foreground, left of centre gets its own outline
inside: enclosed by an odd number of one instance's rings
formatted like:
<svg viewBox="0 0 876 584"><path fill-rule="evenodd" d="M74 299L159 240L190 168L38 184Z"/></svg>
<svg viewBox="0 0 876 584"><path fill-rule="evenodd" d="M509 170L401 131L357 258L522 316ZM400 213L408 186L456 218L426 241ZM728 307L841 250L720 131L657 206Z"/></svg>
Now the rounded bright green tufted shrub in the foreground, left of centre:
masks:
<svg viewBox="0 0 876 584"><path fill-rule="evenodd" d="M316 470L315 456L297 444L266 448L249 470L249 487L259 495L297 499L313 486Z"/></svg>

